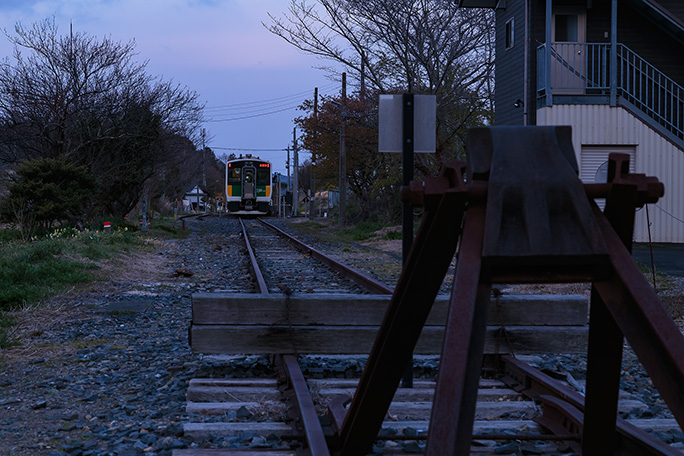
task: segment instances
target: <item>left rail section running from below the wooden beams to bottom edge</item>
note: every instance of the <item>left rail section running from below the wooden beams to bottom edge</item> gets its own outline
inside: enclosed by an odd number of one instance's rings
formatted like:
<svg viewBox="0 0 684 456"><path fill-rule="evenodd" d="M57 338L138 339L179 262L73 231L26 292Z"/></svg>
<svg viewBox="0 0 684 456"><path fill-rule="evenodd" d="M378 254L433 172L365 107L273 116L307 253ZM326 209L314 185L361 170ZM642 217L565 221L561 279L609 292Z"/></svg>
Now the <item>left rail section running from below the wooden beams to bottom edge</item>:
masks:
<svg viewBox="0 0 684 456"><path fill-rule="evenodd" d="M282 362L288 385L292 388L295 405L304 431L304 439L311 456L330 456L323 427L318 419L311 392L297 358L294 355L283 355Z"/></svg>

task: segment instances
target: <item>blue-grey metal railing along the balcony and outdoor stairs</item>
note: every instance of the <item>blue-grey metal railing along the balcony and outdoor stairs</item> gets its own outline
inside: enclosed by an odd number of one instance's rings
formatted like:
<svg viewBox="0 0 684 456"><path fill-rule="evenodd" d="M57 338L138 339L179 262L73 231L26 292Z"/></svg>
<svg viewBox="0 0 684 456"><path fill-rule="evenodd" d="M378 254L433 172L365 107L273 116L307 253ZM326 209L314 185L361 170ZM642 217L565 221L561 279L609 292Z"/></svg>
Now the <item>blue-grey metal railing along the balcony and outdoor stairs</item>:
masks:
<svg viewBox="0 0 684 456"><path fill-rule="evenodd" d="M537 97L608 95L610 44L552 43L537 48ZM617 45L615 93L670 133L684 140L684 88L628 47Z"/></svg>

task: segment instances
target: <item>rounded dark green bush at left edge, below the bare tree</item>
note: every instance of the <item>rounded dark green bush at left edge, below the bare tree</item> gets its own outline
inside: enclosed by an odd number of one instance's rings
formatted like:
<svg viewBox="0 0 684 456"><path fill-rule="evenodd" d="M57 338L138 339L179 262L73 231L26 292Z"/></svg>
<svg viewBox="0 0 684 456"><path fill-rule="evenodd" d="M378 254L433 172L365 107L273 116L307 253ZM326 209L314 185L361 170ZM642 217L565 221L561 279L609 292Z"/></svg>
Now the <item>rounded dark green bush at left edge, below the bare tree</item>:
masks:
<svg viewBox="0 0 684 456"><path fill-rule="evenodd" d="M85 167L60 159L25 161L12 176L0 214L19 223L25 234L37 227L80 221L83 207L95 191L95 180Z"/></svg>

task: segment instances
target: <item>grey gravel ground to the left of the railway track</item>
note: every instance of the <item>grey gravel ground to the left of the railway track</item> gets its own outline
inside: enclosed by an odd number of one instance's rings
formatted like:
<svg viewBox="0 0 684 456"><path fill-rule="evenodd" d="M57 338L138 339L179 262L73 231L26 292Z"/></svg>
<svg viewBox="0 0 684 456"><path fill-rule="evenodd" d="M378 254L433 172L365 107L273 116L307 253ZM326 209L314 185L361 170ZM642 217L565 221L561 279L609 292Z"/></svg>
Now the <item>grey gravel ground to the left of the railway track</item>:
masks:
<svg viewBox="0 0 684 456"><path fill-rule="evenodd" d="M17 314L21 345L0 352L0 455L170 455L192 445L181 424L189 379L267 370L190 352L191 294L241 278L225 269L238 242L223 221L186 223L188 239L159 241L155 254L107 266L109 280Z"/></svg>

